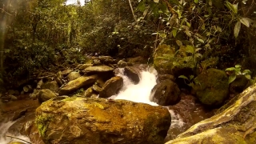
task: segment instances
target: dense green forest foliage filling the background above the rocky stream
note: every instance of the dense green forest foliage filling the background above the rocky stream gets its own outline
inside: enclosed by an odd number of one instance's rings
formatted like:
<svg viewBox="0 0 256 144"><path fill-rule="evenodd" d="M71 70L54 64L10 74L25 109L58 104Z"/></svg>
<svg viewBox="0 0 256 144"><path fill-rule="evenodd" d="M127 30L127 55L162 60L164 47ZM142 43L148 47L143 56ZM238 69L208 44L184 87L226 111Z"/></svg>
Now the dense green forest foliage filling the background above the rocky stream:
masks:
<svg viewBox="0 0 256 144"><path fill-rule="evenodd" d="M246 68L256 63L254 0L85 2L0 1L5 75L0 82L29 78L50 65L84 62L89 53L149 58L163 43L193 55L195 63L217 57L222 69L239 59Z"/></svg>

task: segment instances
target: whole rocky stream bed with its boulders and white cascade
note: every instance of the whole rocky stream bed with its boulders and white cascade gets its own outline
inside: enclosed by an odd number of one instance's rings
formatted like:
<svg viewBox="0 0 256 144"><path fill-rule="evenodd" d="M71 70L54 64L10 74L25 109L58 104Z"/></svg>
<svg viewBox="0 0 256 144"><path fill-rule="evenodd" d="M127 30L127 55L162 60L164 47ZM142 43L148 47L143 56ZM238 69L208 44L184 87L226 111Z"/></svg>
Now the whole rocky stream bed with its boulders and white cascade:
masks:
<svg viewBox="0 0 256 144"><path fill-rule="evenodd" d="M225 143L232 132L227 143L255 142L255 86L214 115L175 82L153 67L110 57L39 74L22 94L2 94L0 144Z"/></svg>

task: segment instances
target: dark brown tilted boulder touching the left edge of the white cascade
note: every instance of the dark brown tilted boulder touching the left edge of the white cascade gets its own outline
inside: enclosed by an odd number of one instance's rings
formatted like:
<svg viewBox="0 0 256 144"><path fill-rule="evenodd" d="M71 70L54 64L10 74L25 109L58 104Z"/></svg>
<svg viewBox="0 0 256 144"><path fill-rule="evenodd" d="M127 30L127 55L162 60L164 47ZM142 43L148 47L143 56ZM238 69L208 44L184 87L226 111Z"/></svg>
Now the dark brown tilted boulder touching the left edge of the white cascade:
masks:
<svg viewBox="0 0 256 144"><path fill-rule="evenodd" d="M106 81L104 86L102 87L102 91L99 93L100 98L109 98L114 94L118 94L118 90L120 90L123 86L122 77L113 77Z"/></svg>

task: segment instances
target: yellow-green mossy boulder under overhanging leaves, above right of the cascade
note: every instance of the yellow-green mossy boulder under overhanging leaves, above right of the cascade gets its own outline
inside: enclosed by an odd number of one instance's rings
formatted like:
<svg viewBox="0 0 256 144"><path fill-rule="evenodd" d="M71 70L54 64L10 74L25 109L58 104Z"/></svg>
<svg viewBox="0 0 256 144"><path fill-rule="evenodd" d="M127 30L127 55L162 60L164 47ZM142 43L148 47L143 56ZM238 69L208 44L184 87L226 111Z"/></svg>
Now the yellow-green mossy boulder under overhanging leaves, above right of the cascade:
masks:
<svg viewBox="0 0 256 144"><path fill-rule="evenodd" d="M160 45L155 50L154 68L158 74L173 74L175 77L190 75L193 74L194 67L193 56L187 56L182 50L176 54L175 48L167 45Z"/></svg>

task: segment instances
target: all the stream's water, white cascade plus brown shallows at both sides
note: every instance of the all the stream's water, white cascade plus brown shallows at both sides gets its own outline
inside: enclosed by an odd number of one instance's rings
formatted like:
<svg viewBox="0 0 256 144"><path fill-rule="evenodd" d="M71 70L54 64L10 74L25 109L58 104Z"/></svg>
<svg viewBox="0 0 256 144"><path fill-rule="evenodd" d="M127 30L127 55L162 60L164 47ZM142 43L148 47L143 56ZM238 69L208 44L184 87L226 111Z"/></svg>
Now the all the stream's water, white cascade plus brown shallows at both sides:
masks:
<svg viewBox="0 0 256 144"><path fill-rule="evenodd" d="M141 68L142 66L138 67ZM126 99L133 102L147 103L151 106L158 106L158 104L150 102L150 91L156 85L156 70L143 69L141 72L141 80L137 85L134 85L134 83L126 77L126 75L124 74L124 69L118 69L116 71L116 74L123 78L124 86L117 95L114 95L110 98ZM14 103L10 102L10 104L7 103L5 105L6 106L1 106L0 104L0 110L5 110L7 112L9 111L9 113L13 113L14 111L21 110L26 107L26 109L30 111L30 115L33 115L35 108L39 106L39 104L37 104L33 100L26 100L22 102L16 101ZM193 126L195 123L200 122L203 119L210 118L210 116L212 116L212 114L208 110L205 110L205 108L199 102L197 102L194 96L186 93L182 93L181 101L178 102L178 104L174 106L166 106L166 109L170 111L170 115L172 118L171 126L165 140L166 142L174 139L178 134L181 134L182 132L190 128L190 126ZM1 111L0 117L2 117ZM8 117L10 118L10 115ZM33 118L34 117L28 118L26 116L26 118L23 118L23 122L20 123L24 124ZM10 119L6 119L6 121L1 121L0 118L0 144L7 144L8 142L14 140L13 138L7 138L6 135L12 135L18 138L22 138L29 142L29 138L17 133L17 131L19 130L14 126L15 124L17 124L17 122L11 122ZM15 142L18 141L15 139Z"/></svg>

